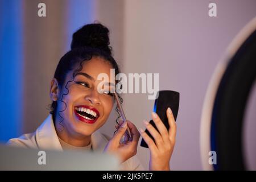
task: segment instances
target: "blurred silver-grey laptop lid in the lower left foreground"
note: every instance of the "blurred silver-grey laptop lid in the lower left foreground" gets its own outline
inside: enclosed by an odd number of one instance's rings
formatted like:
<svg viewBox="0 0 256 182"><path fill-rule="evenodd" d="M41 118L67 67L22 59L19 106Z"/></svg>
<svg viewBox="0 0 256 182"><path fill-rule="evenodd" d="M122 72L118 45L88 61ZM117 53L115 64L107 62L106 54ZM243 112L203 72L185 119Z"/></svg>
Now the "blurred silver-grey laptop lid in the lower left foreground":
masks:
<svg viewBox="0 0 256 182"><path fill-rule="evenodd" d="M46 151L0 145L0 170L118 170L118 159L101 152Z"/></svg>

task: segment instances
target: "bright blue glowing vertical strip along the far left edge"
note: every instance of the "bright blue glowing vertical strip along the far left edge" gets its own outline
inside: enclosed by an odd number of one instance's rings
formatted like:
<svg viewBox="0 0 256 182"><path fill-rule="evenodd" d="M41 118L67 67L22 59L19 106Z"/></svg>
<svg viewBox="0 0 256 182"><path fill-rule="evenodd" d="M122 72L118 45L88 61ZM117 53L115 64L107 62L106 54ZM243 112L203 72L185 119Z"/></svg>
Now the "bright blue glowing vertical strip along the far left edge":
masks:
<svg viewBox="0 0 256 182"><path fill-rule="evenodd" d="M0 1L0 141L18 137L22 123L22 1Z"/></svg>

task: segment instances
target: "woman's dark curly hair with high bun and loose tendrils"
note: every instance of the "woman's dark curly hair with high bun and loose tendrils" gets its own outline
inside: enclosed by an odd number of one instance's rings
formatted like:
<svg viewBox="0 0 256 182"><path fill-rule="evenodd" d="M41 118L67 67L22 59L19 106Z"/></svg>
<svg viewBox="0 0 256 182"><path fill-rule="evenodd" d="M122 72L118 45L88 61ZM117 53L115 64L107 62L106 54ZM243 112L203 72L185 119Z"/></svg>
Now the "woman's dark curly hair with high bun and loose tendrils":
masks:
<svg viewBox="0 0 256 182"><path fill-rule="evenodd" d="M113 69L115 69L115 75L119 73L118 64L112 56L112 47L109 45L109 29L100 23L86 24L73 34L71 50L61 57L54 73L54 78L56 78L60 88L67 90L67 93L63 93L60 99L64 103L65 109L67 108L67 104L63 101L63 97L69 93L67 85L69 82L74 81L76 73L82 70L82 64L85 61L89 61L93 57L101 57L112 65ZM73 71L73 78L64 86L65 78L70 71ZM122 103L122 97L119 94L118 97ZM55 122L57 101L53 101L50 107L50 113ZM64 110L59 111L58 114L60 117L60 113ZM118 113L118 118L115 120L117 122L120 118L118 107L115 107L115 110ZM62 121L60 121L60 124L64 119L63 117L61 118Z"/></svg>

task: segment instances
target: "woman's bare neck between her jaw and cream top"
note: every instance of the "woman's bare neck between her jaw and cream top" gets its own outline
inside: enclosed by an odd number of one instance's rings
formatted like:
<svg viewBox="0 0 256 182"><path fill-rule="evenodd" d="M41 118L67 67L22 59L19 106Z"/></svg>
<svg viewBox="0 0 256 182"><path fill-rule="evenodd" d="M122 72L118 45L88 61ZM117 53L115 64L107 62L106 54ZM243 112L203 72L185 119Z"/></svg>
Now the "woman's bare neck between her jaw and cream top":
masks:
<svg viewBox="0 0 256 182"><path fill-rule="evenodd" d="M84 136L77 133L71 133L67 130L67 127L64 125L64 123L55 122L55 130L60 137L61 140L64 142L71 144L75 147L85 147L88 146L90 143L90 136Z"/></svg>

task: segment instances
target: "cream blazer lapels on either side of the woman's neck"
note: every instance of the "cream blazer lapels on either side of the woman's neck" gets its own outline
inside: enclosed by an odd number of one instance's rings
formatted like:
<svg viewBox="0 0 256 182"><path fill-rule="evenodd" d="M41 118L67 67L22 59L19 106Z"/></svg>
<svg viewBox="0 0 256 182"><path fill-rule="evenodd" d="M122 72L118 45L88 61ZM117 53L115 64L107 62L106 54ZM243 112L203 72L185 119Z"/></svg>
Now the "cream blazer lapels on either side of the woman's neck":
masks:
<svg viewBox="0 0 256 182"><path fill-rule="evenodd" d="M63 151L55 130L52 114L49 114L42 125L38 127L35 132L35 137L39 148L44 150ZM91 135L90 139L92 142L93 151L104 151L104 148L108 143L108 139L104 137L104 135L102 135L99 131L95 131Z"/></svg>

